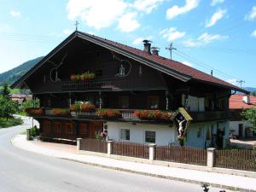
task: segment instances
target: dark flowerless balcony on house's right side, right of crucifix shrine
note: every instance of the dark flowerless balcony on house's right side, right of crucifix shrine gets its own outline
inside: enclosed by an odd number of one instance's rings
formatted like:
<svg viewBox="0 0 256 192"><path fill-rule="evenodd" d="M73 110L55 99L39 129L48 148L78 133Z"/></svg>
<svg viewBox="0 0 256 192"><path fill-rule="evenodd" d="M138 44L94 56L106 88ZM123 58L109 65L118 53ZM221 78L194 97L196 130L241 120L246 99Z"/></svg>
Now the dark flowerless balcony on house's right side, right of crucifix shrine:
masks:
<svg viewBox="0 0 256 192"><path fill-rule="evenodd" d="M212 121L221 119L230 119L230 111L205 111L205 112L189 112L193 121Z"/></svg>

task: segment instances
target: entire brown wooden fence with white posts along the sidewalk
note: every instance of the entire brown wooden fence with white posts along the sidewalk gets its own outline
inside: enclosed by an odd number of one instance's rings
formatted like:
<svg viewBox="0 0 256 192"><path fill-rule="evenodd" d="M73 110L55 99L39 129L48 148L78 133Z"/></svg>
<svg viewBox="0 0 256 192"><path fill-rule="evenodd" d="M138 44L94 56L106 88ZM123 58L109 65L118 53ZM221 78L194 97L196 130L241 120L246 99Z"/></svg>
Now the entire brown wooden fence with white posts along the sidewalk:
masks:
<svg viewBox="0 0 256 192"><path fill-rule="evenodd" d="M256 152L253 150L215 150L215 148L191 148L156 146L155 144L120 143L96 139L78 139L79 150L117 154L148 160L164 160L183 164L221 167L256 172Z"/></svg>

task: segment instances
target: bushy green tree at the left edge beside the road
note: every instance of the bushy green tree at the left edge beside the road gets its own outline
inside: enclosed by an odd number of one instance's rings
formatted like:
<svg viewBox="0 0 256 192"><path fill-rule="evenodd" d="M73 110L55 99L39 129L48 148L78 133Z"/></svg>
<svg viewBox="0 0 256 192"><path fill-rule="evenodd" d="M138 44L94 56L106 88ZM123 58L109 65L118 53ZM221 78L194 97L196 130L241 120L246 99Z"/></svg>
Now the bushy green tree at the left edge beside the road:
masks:
<svg viewBox="0 0 256 192"><path fill-rule="evenodd" d="M17 102L13 102L8 96L0 96L0 114L2 117L6 118L8 121L9 117L11 117L17 110Z"/></svg>

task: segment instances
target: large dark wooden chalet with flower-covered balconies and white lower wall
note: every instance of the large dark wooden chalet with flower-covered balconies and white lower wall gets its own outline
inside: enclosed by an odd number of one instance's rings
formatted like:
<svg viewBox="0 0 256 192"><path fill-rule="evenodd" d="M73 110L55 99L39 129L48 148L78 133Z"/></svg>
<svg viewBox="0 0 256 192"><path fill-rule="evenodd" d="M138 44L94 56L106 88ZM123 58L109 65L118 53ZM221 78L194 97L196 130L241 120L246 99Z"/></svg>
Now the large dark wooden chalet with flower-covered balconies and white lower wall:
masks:
<svg viewBox="0 0 256 192"><path fill-rule="evenodd" d="M166 145L185 135L189 146L224 147L231 90L247 90L143 43L143 50L135 49L76 31L16 81L12 88L29 88L40 100L41 108L27 111L38 119L41 138L102 134Z"/></svg>

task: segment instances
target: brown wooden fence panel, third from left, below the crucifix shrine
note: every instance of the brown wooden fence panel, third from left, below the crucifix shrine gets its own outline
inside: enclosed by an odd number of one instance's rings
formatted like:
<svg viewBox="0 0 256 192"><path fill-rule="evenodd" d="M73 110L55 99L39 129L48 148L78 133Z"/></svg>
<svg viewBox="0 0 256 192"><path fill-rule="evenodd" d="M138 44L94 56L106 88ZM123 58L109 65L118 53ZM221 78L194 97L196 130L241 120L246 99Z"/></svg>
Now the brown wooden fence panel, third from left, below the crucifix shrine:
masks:
<svg viewBox="0 0 256 192"><path fill-rule="evenodd" d="M155 160L207 166L207 150L179 146L156 146Z"/></svg>

